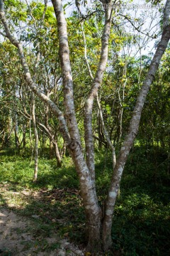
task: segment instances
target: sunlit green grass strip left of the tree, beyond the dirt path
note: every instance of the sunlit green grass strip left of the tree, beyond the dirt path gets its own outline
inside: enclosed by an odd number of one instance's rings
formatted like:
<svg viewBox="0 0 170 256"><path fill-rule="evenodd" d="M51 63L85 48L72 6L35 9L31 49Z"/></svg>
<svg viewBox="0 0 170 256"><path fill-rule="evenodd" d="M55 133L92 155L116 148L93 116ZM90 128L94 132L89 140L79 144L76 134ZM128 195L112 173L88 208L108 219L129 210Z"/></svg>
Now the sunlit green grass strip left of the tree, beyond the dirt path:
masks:
<svg viewBox="0 0 170 256"><path fill-rule="evenodd" d="M41 157L38 161L38 182L33 183L34 162L24 154L11 155L11 151L1 153L0 181L15 183L16 190L23 188L78 188L77 174L71 159L64 159L62 168L57 168L56 161ZM67 169L67 172L65 171Z"/></svg>

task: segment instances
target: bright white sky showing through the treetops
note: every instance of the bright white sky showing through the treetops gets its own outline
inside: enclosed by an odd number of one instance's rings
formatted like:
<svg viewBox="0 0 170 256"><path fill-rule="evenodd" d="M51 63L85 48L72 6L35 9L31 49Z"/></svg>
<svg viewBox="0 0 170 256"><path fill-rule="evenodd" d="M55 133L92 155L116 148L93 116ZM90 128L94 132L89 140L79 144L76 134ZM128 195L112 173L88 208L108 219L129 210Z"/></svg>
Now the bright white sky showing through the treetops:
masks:
<svg viewBox="0 0 170 256"><path fill-rule="evenodd" d="M65 16L70 16L72 14L72 11L74 11L75 5L74 0L70 0L68 5L65 8ZM84 6L80 6L80 9L83 14L86 14L86 9L89 9L90 11L95 10L95 2L88 0L86 4L86 8ZM97 1L98 2L98 1ZM64 4L67 4L67 0L62 1L63 6ZM135 24L135 26L138 28L139 24L142 23L142 26L140 26L140 33L137 31L130 22L126 22L125 25L123 25L123 29L125 29L125 33L130 33L132 36L140 36L140 40L137 42L138 46L133 46L132 49L129 49L131 51L130 55L147 55L148 53L154 53L156 49L157 42L159 41L159 36L157 38L153 39L149 36L155 36L160 34L160 26L159 21L162 14L162 11L160 11L160 6L152 6L151 4L146 4L145 0L137 1L123 1L125 3L120 10L118 11L119 14L123 14L125 16L130 16L130 20L132 23ZM162 1L162 6L164 6L165 1ZM139 23L137 20L143 20ZM145 34L149 34L149 36L145 36ZM140 50L139 50L140 49ZM135 53L136 52L136 53Z"/></svg>

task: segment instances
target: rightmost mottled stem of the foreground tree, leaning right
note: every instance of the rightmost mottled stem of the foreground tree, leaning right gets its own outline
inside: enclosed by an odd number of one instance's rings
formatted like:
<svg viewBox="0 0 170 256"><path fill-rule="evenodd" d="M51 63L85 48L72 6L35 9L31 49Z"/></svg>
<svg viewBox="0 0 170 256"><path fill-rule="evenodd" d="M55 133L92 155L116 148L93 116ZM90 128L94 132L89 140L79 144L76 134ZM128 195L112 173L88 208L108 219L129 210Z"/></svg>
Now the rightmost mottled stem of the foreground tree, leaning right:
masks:
<svg viewBox="0 0 170 256"><path fill-rule="evenodd" d="M140 95L137 97L135 110L133 111L132 119L130 122L129 132L128 132L128 135L125 137L123 146L120 149L118 161L115 165L113 178L111 180L111 186L109 188L108 198L106 201L106 213L103 220L103 246L105 250L108 250L108 248L111 246L111 243L112 243L111 226L112 226L112 219L113 219L113 210L115 206L115 200L118 195L120 179L123 174L125 162L128 159L128 154L130 152L130 149L132 148L132 144L135 141L135 137L137 135L137 131L140 124L140 117L141 117L142 109L147 97L147 92L154 80L155 73L157 72L162 55L166 50L167 44L169 42L169 38L170 38L170 26L168 25L166 26L166 28L164 28L161 41L157 46L157 51L154 54L154 58L149 67L149 71L147 73L145 81L143 82L142 88L140 90Z"/></svg>

